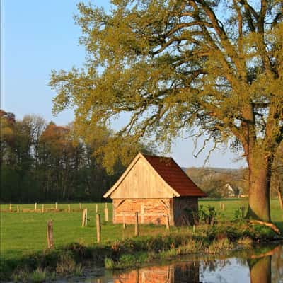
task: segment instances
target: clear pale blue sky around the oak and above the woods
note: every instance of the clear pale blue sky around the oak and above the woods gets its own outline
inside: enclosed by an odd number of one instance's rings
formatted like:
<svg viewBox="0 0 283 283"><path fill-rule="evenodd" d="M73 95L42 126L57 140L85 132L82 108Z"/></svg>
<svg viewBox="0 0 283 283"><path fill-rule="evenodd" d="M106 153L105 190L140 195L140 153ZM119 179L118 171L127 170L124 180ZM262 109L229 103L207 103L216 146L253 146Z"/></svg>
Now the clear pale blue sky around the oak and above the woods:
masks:
<svg viewBox="0 0 283 283"><path fill-rule="evenodd" d="M54 117L52 98L55 96L48 81L52 69L69 70L83 64L86 52L79 46L81 30L74 23L79 0L1 0L1 109L13 112L16 119L24 115L40 115L45 120L67 125L74 119L71 110ZM83 1L86 4L89 1ZM108 0L92 1L110 8ZM121 118L119 123L124 121ZM118 125L113 125L113 128ZM200 139L198 147L202 147ZM180 137L172 146L171 156L183 167L204 166L208 148L197 158L194 142ZM224 146L214 151L206 166L239 168L237 161Z"/></svg>

